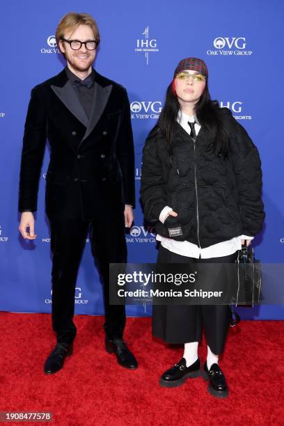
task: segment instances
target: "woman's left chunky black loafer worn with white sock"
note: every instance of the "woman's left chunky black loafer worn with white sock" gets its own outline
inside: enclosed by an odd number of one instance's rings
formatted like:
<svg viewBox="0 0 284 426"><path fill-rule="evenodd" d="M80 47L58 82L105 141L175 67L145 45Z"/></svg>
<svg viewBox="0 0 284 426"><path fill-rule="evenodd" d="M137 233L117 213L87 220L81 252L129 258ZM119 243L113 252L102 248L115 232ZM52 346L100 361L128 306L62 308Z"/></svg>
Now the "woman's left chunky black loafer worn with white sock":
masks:
<svg viewBox="0 0 284 426"><path fill-rule="evenodd" d="M197 358L195 363L187 367L187 363L184 358L182 358L178 363L173 365L172 368L166 370L164 374L161 375L159 384L164 388L175 388L184 384L184 381L187 379L194 379L199 377L201 374L200 371L200 359Z"/></svg>

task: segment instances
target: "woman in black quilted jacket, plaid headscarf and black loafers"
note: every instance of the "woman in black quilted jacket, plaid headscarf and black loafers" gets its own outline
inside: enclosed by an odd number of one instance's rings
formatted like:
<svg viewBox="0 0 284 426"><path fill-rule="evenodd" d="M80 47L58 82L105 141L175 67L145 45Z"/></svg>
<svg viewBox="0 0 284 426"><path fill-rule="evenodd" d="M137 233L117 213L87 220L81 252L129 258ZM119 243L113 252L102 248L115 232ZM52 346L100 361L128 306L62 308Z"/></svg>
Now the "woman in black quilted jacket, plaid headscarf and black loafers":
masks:
<svg viewBox="0 0 284 426"><path fill-rule="evenodd" d="M210 263L216 268L234 263L242 244L250 244L262 229L261 191L258 149L230 110L211 100L204 61L182 59L143 149L141 201L161 242L157 263ZM220 270L219 281L212 278L214 290L216 284L225 290L230 285ZM202 374L212 395L226 397L219 355L229 321L228 303L153 306L153 335L184 344L180 361L161 375L161 386L180 386L201 374L198 342L204 325Z"/></svg>

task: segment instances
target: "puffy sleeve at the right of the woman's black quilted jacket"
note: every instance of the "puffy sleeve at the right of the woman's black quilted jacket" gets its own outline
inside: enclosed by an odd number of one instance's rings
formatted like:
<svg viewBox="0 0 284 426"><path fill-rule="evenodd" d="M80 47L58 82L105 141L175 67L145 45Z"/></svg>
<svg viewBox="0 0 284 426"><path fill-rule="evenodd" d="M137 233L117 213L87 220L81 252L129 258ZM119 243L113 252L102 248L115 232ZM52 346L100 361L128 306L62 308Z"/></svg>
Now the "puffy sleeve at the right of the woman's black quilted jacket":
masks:
<svg viewBox="0 0 284 426"><path fill-rule="evenodd" d="M253 236L262 230L265 220L261 198L261 161L258 148L237 121L229 136L229 155L232 159L239 194L242 234Z"/></svg>

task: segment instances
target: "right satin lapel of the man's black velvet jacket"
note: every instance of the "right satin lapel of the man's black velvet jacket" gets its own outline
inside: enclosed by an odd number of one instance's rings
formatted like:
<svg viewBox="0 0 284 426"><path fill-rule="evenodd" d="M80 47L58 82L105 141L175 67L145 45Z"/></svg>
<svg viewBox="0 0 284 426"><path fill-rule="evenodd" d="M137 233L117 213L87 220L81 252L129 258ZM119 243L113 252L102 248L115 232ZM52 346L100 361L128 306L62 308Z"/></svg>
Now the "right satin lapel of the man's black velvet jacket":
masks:
<svg viewBox="0 0 284 426"><path fill-rule="evenodd" d="M104 112L105 107L107 106L107 102L109 100L109 96L111 95L112 85L109 86L100 86L100 84L95 81L94 86L94 95L93 95L93 104L92 109L90 111L90 120L88 123L88 127L86 129L86 133L81 142L84 141L92 132L97 122L100 120L102 113Z"/></svg>

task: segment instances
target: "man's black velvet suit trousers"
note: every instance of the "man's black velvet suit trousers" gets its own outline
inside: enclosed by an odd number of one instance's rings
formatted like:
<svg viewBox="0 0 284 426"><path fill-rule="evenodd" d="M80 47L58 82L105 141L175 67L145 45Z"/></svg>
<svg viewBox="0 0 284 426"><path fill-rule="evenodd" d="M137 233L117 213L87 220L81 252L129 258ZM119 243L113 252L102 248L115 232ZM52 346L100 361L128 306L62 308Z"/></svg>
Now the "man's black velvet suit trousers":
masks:
<svg viewBox="0 0 284 426"><path fill-rule="evenodd" d="M109 304L109 263L127 262L123 212L104 219L84 221L49 219L52 260L52 326L58 342L71 342L76 335L73 322L77 273L88 232L95 265L104 293L104 330L107 337L123 337L125 306Z"/></svg>

